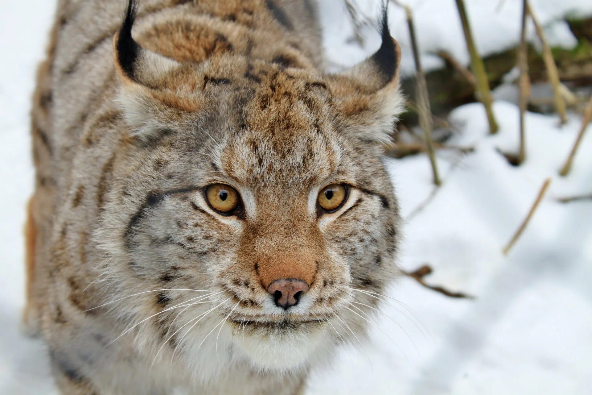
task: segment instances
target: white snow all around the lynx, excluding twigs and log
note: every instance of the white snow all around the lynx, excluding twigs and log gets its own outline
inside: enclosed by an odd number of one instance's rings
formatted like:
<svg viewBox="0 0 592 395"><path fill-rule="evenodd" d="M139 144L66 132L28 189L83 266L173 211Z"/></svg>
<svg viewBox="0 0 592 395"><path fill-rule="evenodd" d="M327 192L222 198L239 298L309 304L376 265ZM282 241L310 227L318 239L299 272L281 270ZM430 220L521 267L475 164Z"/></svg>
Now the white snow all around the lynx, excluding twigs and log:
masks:
<svg viewBox="0 0 592 395"><path fill-rule="evenodd" d="M517 37L519 2L500 2L501 7L497 1L468 2L483 52L510 46ZM553 40L566 46L572 38L552 20L569 12L592 12L587 1L533 0L533 6L549 33L556 33ZM29 97L53 7L53 1L0 0L5 54L0 64L0 394L54 393L40 342L18 332L24 281L21 224L33 179ZM453 1L423 0L415 8L424 50L444 47L466 59ZM326 0L323 10L334 63L352 63L368 53L343 44L349 24L339 1ZM395 9L391 21L405 50L406 30ZM408 70L411 63L406 62ZM556 198L592 192L592 127L571 175L562 179L558 170L580 126L578 117L570 115L569 123L558 127L556 117L527 114L528 159L515 168L497 149L516 150L517 108L498 101L494 110L501 126L494 137L487 136L479 104L451 114L460 130L452 143L475 146L475 152L439 153L444 183L419 213L410 216L433 191L427 158L391 160L389 165L408 219L401 266L413 270L429 263L435 273L428 282L477 298L455 300L401 280L390 296L413 313L394 301L385 304L385 316L370 341L361 349L343 349L331 368L314 372L308 394L590 393L592 204L562 204ZM504 256L501 249L549 176L545 200Z"/></svg>

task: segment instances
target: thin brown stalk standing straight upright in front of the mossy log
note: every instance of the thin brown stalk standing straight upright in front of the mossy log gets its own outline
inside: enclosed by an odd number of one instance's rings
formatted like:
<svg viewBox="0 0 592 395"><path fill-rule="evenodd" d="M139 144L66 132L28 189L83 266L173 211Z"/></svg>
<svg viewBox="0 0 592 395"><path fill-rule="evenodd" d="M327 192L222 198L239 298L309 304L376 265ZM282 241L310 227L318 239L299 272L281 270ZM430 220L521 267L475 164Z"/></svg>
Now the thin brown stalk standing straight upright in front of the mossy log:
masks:
<svg viewBox="0 0 592 395"><path fill-rule="evenodd" d="M528 78L528 46L526 43L526 16L528 15L527 1L522 3L522 29L520 30L520 47L518 48L517 60L520 69L519 79L519 106L520 106L520 152L518 154L518 165L521 165L526 158L526 125L525 111L530 96L530 80Z"/></svg>

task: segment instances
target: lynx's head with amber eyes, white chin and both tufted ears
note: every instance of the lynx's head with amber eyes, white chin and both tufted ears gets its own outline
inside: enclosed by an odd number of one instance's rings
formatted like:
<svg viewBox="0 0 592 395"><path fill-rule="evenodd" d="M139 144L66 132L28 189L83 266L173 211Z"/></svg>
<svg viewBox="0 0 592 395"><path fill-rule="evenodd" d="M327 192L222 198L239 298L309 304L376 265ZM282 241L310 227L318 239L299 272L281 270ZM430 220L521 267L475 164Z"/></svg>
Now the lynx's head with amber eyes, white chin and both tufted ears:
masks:
<svg viewBox="0 0 592 395"><path fill-rule="evenodd" d="M396 272L381 143L403 100L386 18L378 52L323 75L304 56L266 60L238 38L178 62L134 41L134 15L130 6L114 40L128 139L102 217L107 270L124 294L163 290L134 298L142 317L181 304L142 329L160 346L163 330L189 323L169 340L179 357L226 318L234 354L262 368L303 365L339 341L334 324L363 326L352 288L381 290ZM192 297L200 303L183 304ZM183 336L194 323L198 334Z"/></svg>

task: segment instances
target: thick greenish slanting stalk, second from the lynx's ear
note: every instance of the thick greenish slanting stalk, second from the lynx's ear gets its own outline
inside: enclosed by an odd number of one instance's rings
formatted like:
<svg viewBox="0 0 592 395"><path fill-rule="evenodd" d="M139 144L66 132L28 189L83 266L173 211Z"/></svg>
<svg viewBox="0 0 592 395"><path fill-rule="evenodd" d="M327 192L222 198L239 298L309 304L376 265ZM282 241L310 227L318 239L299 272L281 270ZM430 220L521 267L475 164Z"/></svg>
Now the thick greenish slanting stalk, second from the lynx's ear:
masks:
<svg viewBox="0 0 592 395"><path fill-rule="evenodd" d="M489 81L487 79L487 73L485 73L485 65L483 59L477 51L473 35L471 33L471 25L469 25L469 19L466 15L466 8L464 0L456 0L456 7L458 8L458 14L461 17L462 31L465 34L466 48L471 54L471 69L477 78L477 91L478 99L485 106L485 112L487 113L487 121L489 122L489 131L491 134L496 133L498 130L496 117L493 114L493 108L491 105L493 99L491 98L491 91L489 88Z"/></svg>

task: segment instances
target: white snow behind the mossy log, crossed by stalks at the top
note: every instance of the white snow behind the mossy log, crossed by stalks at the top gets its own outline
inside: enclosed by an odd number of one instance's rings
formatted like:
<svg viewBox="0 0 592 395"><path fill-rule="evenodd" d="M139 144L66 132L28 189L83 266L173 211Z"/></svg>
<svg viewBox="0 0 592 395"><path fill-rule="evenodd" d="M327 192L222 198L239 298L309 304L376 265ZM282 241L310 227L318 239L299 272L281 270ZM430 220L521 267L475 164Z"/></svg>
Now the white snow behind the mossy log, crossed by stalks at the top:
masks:
<svg viewBox="0 0 592 395"><path fill-rule="evenodd" d="M469 54L466 50L461 21L455 0L400 0L411 7L413 20L422 53L422 65L425 70L440 68L442 60L436 55L439 51L452 54L459 62L468 65ZM379 15L381 1L352 0L370 20ZM323 25L330 27L326 31L327 54L333 68L348 65L364 59L376 50L379 42L375 39L375 27L363 30L369 45L361 49L355 43L348 43L353 28L345 11L343 0L321 0ZM551 46L566 48L577 44L564 18L579 18L592 15L592 2L589 0L533 0L530 4ZM520 38L522 1L519 0L465 0L466 11L471 24L477 49L482 55L502 52L516 46ZM339 15L339 17L337 17ZM392 2L389 6L391 34L397 38L403 52L402 71L404 75L413 74L415 66L411 53L406 14L402 8ZM528 25L528 38L538 43L535 28ZM373 45L372 45L373 44Z"/></svg>

